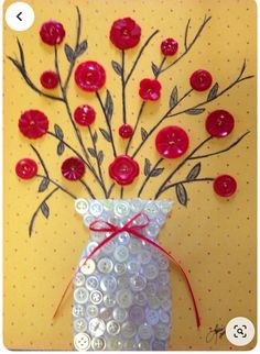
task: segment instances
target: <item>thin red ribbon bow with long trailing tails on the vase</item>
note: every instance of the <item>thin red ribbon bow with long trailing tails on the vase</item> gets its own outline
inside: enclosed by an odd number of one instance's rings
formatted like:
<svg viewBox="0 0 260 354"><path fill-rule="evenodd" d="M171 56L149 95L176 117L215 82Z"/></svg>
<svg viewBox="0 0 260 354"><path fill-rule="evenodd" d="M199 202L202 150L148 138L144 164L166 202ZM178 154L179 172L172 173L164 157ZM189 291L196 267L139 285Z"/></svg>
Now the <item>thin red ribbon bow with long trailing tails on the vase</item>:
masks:
<svg viewBox="0 0 260 354"><path fill-rule="evenodd" d="M143 218L142 223L138 224L134 223L134 221L137 221L139 218ZM91 252L90 254L85 258L85 261L80 264L80 266L78 267L78 269L76 272L78 272L80 269L80 267L86 264L86 262L91 258L102 246L105 246L108 242L110 242L112 239L115 239L119 233L121 232L128 232L129 234L133 235L137 239L140 239L149 244L151 244L152 246L156 247L158 250L160 250L163 254L165 254L167 256L167 258L170 261L172 261L181 270L181 273L183 274L187 287L188 287L188 291L191 294L192 297L192 301L193 301L193 307L194 307L194 313L195 313L195 318L196 318L196 323L197 323L197 328L201 327L201 318L199 318L199 313L198 313L198 308L197 308L197 302L195 299L195 295L191 285L191 281L188 280L188 276L187 273L185 272L185 269L183 268L183 266L170 254L170 252L167 252L166 250L164 250L163 247L161 247L158 243L153 242L152 240L148 239L147 236L144 236L143 234L141 234L139 231L145 229L149 225L149 218L145 213L138 213L136 217L133 217L131 220L129 220L122 228L116 226L110 222L107 222L105 220L96 220L94 222L90 223L89 225L89 230L94 231L94 232L109 232L111 233L108 237L106 237L105 240L102 240ZM65 298L65 295L72 284L73 279L71 279L71 281L68 283L65 291L63 292L63 296L58 302L58 306L56 308L56 311L54 312L53 319L56 317L59 307Z"/></svg>

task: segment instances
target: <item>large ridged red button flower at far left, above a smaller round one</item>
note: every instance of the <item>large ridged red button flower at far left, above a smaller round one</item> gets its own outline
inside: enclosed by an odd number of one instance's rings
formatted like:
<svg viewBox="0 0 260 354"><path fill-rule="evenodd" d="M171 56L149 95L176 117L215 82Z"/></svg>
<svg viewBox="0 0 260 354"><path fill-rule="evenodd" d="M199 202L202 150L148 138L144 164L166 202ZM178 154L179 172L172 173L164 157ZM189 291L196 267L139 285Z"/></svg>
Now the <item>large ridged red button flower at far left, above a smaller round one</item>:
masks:
<svg viewBox="0 0 260 354"><path fill-rule="evenodd" d="M19 129L29 139L41 137L48 129L47 117L37 110L25 111L19 119Z"/></svg>

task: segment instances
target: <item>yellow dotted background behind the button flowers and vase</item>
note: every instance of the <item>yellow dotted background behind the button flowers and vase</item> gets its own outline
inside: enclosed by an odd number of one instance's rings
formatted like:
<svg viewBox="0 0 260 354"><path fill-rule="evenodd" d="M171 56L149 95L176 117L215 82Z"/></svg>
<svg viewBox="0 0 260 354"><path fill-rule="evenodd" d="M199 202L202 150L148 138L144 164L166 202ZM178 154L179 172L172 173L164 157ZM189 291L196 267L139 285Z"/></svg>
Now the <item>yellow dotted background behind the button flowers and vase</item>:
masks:
<svg viewBox="0 0 260 354"><path fill-rule="evenodd" d="M7 7L13 1L6 1ZM73 269L77 264L88 237L82 219L75 214L72 199L58 192L48 201L50 219L39 215L32 237L28 235L29 220L44 195L37 193L40 180L19 181L14 166L22 157L35 158L29 141L18 131L18 120L22 111L40 109L53 124L58 123L65 137L77 147L63 103L50 101L33 92L22 80L20 74L6 56L18 55L15 37L23 44L28 71L34 82L45 69L54 69L53 49L42 44L39 29L44 21L55 19L66 29L64 43L74 46L76 10L83 14L83 36L88 40L88 49L79 62L94 59L107 69L107 87L115 100L113 130L121 123L120 78L111 69L111 59L120 62L119 52L108 40L111 23L121 16L132 16L142 27L142 43L156 29L156 35L145 51L140 66L128 87L128 120L134 123L140 99L138 85L141 78L152 76L151 59L160 63L160 43L173 36L183 51L184 30L192 18L189 38L203 22L205 14L213 19L192 51L176 66L160 76L163 86L160 102L148 103L142 124L151 126L167 109L173 86L177 85L180 95L188 90L188 77L195 69L208 69L220 88L226 87L239 74L243 59L247 59L245 75L256 75L256 3L249 0L45 0L29 1L35 11L33 26L24 33L14 33L4 23L4 343L9 349L19 350L72 350L73 329L71 298L64 305L59 317L52 323L52 314ZM191 41L191 40L189 40ZM63 43L63 44L64 44ZM139 45L140 47L140 45ZM138 48L127 52L127 68L138 53ZM62 75L66 74L68 63L58 49ZM58 93L58 91L57 91ZM101 91L105 99L105 90ZM194 92L182 106L189 108L204 98ZM97 111L96 126L104 126L104 117L95 95L86 95L69 85L69 101L75 108L88 102ZM198 298L202 313L202 328L196 329L189 295L185 283L175 267L171 270L173 284L173 328L169 350L231 350L235 349L226 338L206 343L209 327L220 325L237 316L248 317L256 324L256 79L247 80L232 88L220 99L206 106L208 111L224 108L236 119L234 132L224 140L210 143L210 151L228 146L245 131L248 135L227 154L214 156L202 162L202 176L214 177L227 173L238 181L238 191L230 200L217 198L209 184L187 186L188 207L175 204L166 226L160 234L162 244L182 261L188 269ZM206 137L204 121L206 114L182 114L165 121L163 125L178 124L189 133L191 148ZM162 125L162 126L163 126ZM83 131L84 139L89 140ZM136 139L136 146L138 143ZM151 140L152 142L152 140ZM34 143L34 142L33 142ZM118 151L122 143L116 137ZM56 141L50 136L34 144L44 157L53 178L59 180L77 196L87 198L78 184L65 182L61 178L59 166L65 156L57 157ZM99 147L106 143L99 134ZM111 161L111 150L105 147L106 164ZM207 147L204 153L208 152ZM158 155L152 144L138 156L143 168L144 156L155 163ZM197 161L196 161L197 162ZM163 163L166 170L178 162ZM106 167L106 164L104 165ZM185 177L193 164L187 164L176 176ZM163 175L165 178L165 175ZM143 192L143 198L152 198L163 176L154 178ZM93 190L98 188L86 175ZM134 196L142 177L128 188L124 197ZM106 178L108 184L109 178ZM51 188L51 187L50 187ZM51 189L50 189L51 190ZM153 193L152 193L153 192ZM113 198L119 196L115 189ZM101 197L101 196L100 196ZM163 195L176 199L174 190ZM72 295L72 294L71 294ZM251 343L247 346L250 349Z"/></svg>

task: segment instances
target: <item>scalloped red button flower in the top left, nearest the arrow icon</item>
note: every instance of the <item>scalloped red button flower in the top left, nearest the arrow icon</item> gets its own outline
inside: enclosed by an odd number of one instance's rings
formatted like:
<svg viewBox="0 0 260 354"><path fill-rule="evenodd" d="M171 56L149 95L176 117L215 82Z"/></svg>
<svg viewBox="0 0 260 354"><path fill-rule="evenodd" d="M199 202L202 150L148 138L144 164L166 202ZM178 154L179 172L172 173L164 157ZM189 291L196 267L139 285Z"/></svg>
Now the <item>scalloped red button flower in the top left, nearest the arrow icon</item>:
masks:
<svg viewBox="0 0 260 354"><path fill-rule="evenodd" d="M43 23L40 30L41 38L48 45L55 45L63 42L65 30L62 23L56 21L48 21Z"/></svg>

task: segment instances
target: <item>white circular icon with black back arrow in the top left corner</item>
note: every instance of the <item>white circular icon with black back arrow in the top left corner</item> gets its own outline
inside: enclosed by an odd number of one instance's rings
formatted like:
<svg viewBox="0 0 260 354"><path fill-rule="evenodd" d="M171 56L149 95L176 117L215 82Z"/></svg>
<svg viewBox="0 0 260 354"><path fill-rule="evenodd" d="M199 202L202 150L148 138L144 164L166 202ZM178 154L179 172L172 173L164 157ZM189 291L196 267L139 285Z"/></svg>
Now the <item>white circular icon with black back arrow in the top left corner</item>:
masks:
<svg viewBox="0 0 260 354"><path fill-rule="evenodd" d="M34 11L25 2L14 2L8 7L6 21L9 27L14 31L26 31L34 22Z"/></svg>

